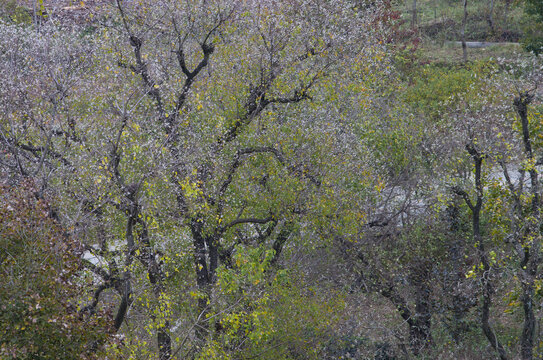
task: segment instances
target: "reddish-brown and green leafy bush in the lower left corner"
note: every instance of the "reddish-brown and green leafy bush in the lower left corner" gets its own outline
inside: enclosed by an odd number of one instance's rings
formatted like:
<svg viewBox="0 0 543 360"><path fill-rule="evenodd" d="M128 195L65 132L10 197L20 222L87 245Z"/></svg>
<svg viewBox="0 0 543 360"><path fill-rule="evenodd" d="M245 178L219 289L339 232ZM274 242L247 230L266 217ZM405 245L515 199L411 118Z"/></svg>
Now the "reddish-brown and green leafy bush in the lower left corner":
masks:
<svg viewBox="0 0 543 360"><path fill-rule="evenodd" d="M78 311L76 243L32 186L0 187L0 358L95 359L107 316Z"/></svg>

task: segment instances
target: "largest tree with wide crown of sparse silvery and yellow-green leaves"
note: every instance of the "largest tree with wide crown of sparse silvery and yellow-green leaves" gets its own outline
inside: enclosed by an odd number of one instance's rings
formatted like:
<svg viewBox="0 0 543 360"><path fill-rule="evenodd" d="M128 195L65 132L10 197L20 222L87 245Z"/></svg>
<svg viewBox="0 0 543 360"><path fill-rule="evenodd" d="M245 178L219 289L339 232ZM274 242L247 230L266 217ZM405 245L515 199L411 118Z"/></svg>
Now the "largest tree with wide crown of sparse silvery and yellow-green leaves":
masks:
<svg viewBox="0 0 543 360"><path fill-rule="evenodd" d="M277 264L301 238L333 145L320 128L339 121L330 84L375 61L367 30L378 11L156 5L116 2L84 41L53 21L39 34L6 26L20 42L2 53L18 79L2 94L2 146L13 181L33 177L55 194L85 249L89 309L114 298L123 351L167 359L209 348L217 271L241 245L273 250Z"/></svg>

